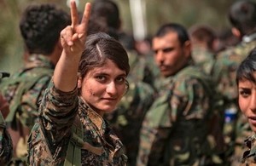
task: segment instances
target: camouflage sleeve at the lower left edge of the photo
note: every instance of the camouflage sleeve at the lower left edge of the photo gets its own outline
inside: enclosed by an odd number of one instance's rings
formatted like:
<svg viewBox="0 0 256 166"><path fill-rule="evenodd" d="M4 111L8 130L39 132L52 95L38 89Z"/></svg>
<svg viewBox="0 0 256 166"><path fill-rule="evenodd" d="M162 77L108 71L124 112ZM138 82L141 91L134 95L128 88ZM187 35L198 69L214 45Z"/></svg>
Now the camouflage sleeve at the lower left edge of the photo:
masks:
<svg viewBox="0 0 256 166"><path fill-rule="evenodd" d="M6 124L0 111L0 165L7 165L7 163L9 163L12 157L12 152L12 140L6 129Z"/></svg>

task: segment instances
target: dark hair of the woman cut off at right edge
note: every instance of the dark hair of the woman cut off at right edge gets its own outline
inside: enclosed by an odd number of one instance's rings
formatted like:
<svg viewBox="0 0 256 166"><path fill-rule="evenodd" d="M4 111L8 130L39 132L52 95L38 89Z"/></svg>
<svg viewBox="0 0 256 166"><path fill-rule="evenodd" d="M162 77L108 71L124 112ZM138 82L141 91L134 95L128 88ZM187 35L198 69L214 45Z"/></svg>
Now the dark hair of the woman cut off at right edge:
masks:
<svg viewBox="0 0 256 166"><path fill-rule="evenodd" d="M253 49L238 67L236 71L236 84L238 85L238 82L241 80L256 83L254 72L256 72L256 49Z"/></svg>

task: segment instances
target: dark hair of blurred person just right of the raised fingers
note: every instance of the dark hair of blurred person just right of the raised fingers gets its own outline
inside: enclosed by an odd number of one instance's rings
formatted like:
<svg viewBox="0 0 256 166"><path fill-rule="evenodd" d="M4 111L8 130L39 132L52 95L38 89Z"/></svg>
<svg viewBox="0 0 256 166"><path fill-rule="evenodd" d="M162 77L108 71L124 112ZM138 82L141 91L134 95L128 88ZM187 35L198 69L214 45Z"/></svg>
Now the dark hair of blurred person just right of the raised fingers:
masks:
<svg viewBox="0 0 256 166"><path fill-rule="evenodd" d="M120 27L119 8L111 0L95 0L91 4L90 17L105 21L107 26L115 30Z"/></svg>

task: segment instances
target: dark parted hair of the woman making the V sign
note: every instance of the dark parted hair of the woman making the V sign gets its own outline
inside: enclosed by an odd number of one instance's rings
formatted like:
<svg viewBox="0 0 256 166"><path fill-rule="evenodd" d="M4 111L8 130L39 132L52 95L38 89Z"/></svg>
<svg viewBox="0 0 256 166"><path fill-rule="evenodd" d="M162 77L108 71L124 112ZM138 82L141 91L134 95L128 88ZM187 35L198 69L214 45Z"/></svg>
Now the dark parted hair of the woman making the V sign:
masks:
<svg viewBox="0 0 256 166"><path fill-rule="evenodd" d="M88 36L79 64L81 77L90 69L103 66L107 59L112 60L127 75L130 72L128 55L121 43L104 32Z"/></svg>

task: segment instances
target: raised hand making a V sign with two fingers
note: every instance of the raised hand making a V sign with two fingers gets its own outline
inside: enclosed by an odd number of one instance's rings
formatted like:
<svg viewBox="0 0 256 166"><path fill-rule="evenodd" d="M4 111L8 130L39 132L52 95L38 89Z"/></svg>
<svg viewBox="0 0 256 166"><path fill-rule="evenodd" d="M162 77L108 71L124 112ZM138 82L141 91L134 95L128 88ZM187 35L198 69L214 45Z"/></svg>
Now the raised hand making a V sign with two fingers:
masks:
<svg viewBox="0 0 256 166"><path fill-rule="evenodd" d="M61 45L67 55L82 54L90 17L90 3L85 4L83 18L79 24L79 14L75 1L71 1L72 25L61 31Z"/></svg>

